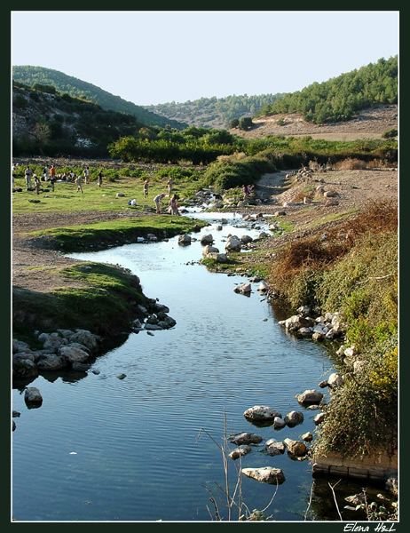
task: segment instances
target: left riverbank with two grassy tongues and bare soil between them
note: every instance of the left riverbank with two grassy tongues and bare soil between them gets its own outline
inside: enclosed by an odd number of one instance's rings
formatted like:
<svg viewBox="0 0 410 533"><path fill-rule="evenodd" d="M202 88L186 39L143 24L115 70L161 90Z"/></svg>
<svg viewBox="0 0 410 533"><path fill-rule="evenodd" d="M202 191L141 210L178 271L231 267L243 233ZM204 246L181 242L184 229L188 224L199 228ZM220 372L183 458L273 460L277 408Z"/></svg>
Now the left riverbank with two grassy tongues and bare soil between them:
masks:
<svg viewBox="0 0 410 533"><path fill-rule="evenodd" d="M64 252L163 240L199 231L206 224L149 212L126 217L122 212L15 215L13 331L20 340L33 341L35 330L82 327L103 336L130 330L131 319L139 316L136 306L146 306L147 300L138 277L118 265L96 272Z"/></svg>

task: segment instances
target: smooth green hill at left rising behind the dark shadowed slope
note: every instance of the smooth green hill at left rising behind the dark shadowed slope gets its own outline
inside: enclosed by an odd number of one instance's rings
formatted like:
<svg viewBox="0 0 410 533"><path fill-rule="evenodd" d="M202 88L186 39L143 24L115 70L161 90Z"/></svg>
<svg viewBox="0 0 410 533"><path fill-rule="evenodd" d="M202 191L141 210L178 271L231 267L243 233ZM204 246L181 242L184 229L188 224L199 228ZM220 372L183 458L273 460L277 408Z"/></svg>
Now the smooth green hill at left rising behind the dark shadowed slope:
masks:
<svg viewBox="0 0 410 533"><path fill-rule="evenodd" d="M165 116L157 115L148 111L145 107L137 106L119 96L114 96L114 94L104 91L96 85L83 82L73 76L67 76L59 72L59 70L32 66L14 66L12 67L12 79L28 85L28 87L34 84L52 85L59 92L67 92L67 94L75 98L91 100L99 104L103 109L128 113L135 116L139 122L150 126L164 128L169 124L172 128L184 130L189 125Z"/></svg>

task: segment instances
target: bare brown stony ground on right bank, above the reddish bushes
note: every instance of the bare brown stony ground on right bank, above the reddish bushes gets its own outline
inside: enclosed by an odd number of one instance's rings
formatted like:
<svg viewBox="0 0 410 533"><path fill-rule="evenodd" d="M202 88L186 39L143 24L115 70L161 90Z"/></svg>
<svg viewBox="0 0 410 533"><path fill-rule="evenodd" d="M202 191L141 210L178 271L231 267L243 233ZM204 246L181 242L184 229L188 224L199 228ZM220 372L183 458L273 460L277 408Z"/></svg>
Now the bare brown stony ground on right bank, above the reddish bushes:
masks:
<svg viewBox="0 0 410 533"><path fill-rule="evenodd" d="M275 250L311 235L323 234L330 227L343 224L345 219L355 217L369 203L390 201L398 203L398 171L396 169L348 170L313 172L310 179L296 182L287 178L289 171L265 174L256 186L256 195L272 195L272 203L242 208L243 214L264 215L285 213L276 220L290 222L294 229L280 236L274 235L252 245L258 251L257 259L253 254L242 254L245 265L269 261ZM327 205L327 197L316 194L311 203L300 201L301 191L306 186L323 186L324 191L332 191L332 199L337 205Z"/></svg>

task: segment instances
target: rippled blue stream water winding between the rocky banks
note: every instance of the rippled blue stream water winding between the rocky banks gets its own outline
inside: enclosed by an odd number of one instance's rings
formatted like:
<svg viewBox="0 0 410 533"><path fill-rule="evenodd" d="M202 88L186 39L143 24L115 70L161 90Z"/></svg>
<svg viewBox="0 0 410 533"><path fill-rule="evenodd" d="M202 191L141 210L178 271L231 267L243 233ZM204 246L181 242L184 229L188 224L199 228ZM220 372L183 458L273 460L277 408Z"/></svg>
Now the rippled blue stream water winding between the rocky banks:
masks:
<svg viewBox="0 0 410 533"><path fill-rule="evenodd" d="M228 233L256 236L260 231L227 226L201 233L211 233L224 251ZM280 328L277 321L283 317L257 292L259 283L245 297L233 288L247 278L188 264L201 259L201 250L199 240L181 247L176 237L72 254L130 268L146 296L170 307L177 326L154 335L130 334L93 363L99 374L36 378L30 386L43 395L39 409L28 410L24 391L13 390L13 409L21 412L12 435L17 521L210 521L214 508L206 488L219 498L216 483L225 486L217 447L225 414L228 435L248 431L264 441L281 441L313 433L317 411L304 410L302 425L280 431L250 425L243 412L254 405L273 407L283 416L301 410L295 395L318 388L331 369L325 350ZM126 378L117 378L122 373ZM277 521L303 521L311 465L286 454L267 457L263 444L242 463L272 465L285 473L266 514ZM236 474L229 462L232 490ZM242 484L250 510L263 509L275 489L248 478ZM226 520L224 505L218 507ZM333 509L317 518L337 520L337 515Z"/></svg>

